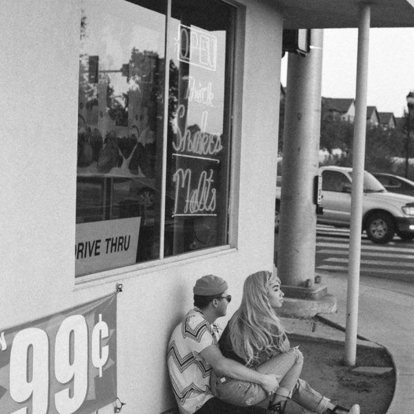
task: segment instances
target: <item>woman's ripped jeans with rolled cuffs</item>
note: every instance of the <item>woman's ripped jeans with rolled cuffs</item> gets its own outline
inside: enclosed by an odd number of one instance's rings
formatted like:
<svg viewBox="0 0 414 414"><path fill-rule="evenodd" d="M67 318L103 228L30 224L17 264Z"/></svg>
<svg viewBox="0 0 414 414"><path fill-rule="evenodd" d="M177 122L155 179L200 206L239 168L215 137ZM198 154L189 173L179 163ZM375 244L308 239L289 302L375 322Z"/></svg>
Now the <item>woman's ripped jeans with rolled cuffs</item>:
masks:
<svg viewBox="0 0 414 414"><path fill-rule="evenodd" d="M297 348L290 348L255 368L259 373L280 375L279 388L276 394L303 406L304 408L323 414L329 400L315 391L306 381L299 378L302 372L304 357ZM238 406L256 405L267 408L273 397L253 382L235 380L230 377L217 377L213 372L210 379L213 394L220 400Z"/></svg>

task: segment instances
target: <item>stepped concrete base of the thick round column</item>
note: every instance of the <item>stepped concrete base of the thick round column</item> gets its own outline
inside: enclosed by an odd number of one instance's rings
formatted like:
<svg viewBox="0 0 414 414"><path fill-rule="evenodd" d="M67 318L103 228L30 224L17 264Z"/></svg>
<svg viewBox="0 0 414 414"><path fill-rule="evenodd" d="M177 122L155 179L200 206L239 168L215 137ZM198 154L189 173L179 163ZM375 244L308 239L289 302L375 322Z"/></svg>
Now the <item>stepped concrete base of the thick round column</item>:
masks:
<svg viewBox="0 0 414 414"><path fill-rule="evenodd" d="M327 293L325 285L318 284L311 288L281 286L285 293L282 308L277 315L282 317L314 317L317 313L334 313L337 299Z"/></svg>

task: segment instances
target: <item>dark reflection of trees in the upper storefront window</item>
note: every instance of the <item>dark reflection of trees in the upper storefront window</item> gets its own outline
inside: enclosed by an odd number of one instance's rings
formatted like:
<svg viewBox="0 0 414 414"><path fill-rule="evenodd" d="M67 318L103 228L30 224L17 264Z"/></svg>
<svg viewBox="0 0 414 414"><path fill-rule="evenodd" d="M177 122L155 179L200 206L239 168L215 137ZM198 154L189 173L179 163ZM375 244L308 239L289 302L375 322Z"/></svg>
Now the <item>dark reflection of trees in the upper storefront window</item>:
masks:
<svg viewBox="0 0 414 414"><path fill-rule="evenodd" d="M88 17L82 10L83 50L88 32ZM99 61L97 83L92 83L87 52L79 56L78 166L88 167L96 161L98 170L108 172L114 166L124 166L128 159L131 172L137 173L140 168L152 177L155 154L160 151L161 155L162 149L164 87L168 87L168 146L174 137L179 100L177 66L170 61L169 79L165 79L165 59L155 51L133 47L129 61L121 68L105 68ZM120 79L125 79L124 88L119 86Z"/></svg>

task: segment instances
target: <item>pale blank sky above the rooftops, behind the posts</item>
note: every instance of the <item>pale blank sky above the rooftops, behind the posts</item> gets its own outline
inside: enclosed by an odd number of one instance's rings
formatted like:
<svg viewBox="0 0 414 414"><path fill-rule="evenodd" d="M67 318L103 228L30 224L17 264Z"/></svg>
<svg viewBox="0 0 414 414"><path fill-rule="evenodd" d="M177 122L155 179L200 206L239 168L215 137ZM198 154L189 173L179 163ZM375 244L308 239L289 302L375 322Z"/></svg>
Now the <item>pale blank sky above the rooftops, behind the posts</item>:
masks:
<svg viewBox="0 0 414 414"><path fill-rule="evenodd" d="M322 96L355 98L357 29L325 29ZM288 53L282 59L286 86ZM406 95L414 90L414 28L371 28L367 105L402 117Z"/></svg>

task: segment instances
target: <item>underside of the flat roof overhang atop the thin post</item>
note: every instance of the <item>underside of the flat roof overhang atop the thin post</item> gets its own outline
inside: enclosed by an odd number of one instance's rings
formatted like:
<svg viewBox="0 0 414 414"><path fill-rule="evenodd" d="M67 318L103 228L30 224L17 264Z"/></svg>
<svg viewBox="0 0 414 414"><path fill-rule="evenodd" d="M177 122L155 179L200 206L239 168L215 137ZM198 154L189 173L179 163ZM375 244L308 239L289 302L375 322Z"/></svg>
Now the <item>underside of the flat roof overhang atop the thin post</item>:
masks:
<svg viewBox="0 0 414 414"><path fill-rule="evenodd" d="M357 28L364 0L273 0L285 29ZM414 0L371 0L371 28L414 27Z"/></svg>

